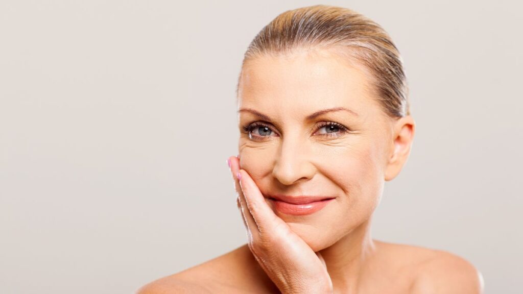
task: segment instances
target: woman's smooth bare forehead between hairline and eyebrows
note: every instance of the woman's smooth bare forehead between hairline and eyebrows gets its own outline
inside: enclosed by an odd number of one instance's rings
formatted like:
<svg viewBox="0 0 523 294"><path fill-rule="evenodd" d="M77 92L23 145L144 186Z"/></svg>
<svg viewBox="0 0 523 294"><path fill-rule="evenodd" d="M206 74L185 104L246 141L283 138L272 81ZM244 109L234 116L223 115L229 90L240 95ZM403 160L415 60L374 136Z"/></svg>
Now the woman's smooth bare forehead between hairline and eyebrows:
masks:
<svg viewBox="0 0 523 294"><path fill-rule="evenodd" d="M377 107L369 89L365 68L333 51L265 54L245 63L238 107L310 112L341 106L365 112Z"/></svg>

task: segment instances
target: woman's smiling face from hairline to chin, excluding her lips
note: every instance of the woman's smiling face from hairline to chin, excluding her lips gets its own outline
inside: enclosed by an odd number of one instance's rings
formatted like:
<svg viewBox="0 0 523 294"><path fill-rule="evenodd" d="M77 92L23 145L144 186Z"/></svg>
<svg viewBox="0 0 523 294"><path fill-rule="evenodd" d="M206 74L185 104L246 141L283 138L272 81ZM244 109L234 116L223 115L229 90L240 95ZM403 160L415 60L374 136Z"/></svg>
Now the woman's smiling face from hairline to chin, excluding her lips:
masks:
<svg viewBox="0 0 523 294"><path fill-rule="evenodd" d="M368 89L363 67L327 50L258 56L243 68L240 167L314 251L367 221L380 202L394 144L391 120ZM335 199L295 216L276 210L271 195Z"/></svg>

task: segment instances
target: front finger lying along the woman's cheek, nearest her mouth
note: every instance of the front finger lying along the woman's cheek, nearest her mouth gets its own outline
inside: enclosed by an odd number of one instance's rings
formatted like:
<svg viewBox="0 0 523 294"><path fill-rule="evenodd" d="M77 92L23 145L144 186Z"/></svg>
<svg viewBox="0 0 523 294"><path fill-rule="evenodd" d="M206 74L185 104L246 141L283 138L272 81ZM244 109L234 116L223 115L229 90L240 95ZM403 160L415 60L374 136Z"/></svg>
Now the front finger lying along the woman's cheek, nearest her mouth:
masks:
<svg viewBox="0 0 523 294"><path fill-rule="evenodd" d="M238 173L240 174L240 187L242 188L247 208L251 212L260 232L275 228L280 222L283 222L269 207L265 197L245 169L240 169Z"/></svg>

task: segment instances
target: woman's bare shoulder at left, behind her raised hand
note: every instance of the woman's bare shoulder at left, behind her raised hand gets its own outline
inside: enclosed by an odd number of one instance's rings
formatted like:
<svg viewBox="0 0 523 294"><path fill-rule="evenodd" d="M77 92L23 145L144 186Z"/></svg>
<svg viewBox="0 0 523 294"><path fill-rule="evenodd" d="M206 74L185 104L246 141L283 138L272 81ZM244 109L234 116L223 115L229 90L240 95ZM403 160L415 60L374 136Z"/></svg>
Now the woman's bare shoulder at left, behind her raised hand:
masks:
<svg viewBox="0 0 523 294"><path fill-rule="evenodd" d="M141 287L136 294L170 293L265 293L263 269L247 245ZM257 262L256 262L257 264ZM266 281L265 281L266 282ZM270 285L270 284L269 284Z"/></svg>

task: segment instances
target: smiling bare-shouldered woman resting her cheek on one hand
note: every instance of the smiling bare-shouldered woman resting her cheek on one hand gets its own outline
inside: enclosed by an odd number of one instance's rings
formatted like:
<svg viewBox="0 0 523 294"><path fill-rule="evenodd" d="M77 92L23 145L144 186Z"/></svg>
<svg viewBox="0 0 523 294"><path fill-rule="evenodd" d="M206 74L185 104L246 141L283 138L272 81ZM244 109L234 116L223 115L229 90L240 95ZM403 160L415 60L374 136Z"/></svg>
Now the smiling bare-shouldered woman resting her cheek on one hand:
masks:
<svg viewBox="0 0 523 294"><path fill-rule="evenodd" d="M465 259L370 236L385 181L410 154L402 62L352 10L285 12L249 45L228 159L248 242L139 293L481 293Z"/></svg>

